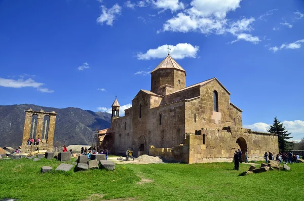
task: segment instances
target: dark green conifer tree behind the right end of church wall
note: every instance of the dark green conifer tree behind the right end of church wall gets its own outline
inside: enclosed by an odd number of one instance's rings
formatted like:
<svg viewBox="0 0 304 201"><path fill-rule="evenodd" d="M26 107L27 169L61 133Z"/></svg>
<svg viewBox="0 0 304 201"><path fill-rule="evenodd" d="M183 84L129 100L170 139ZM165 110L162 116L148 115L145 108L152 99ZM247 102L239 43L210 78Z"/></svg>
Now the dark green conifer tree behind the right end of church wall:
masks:
<svg viewBox="0 0 304 201"><path fill-rule="evenodd" d="M292 136L290 136L291 133L288 133L288 131L286 131L285 127L283 127L283 123L281 123L277 119L277 117L275 117L274 124L271 125L270 129L267 131L269 133L274 133L278 135L279 151L290 151L290 149L293 147L293 142L287 141L288 139L292 138Z"/></svg>

